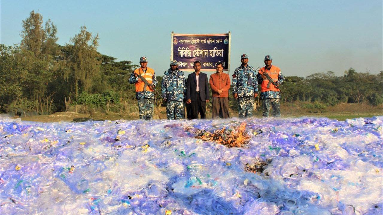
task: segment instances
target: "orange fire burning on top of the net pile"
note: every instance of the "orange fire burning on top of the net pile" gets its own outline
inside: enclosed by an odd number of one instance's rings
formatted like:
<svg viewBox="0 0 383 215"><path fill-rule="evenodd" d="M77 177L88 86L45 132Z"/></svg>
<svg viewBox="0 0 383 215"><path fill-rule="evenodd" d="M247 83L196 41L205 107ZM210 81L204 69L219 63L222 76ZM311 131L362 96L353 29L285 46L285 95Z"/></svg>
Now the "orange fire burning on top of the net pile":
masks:
<svg viewBox="0 0 383 215"><path fill-rule="evenodd" d="M205 130L196 130L192 127L185 128L189 132L195 133L201 140L214 141L218 144L231 147L241 147L249 142L250 136L246 131L246 122L242 122L239 127L223 127L223 129L214 130L213 132Z"/></svg>

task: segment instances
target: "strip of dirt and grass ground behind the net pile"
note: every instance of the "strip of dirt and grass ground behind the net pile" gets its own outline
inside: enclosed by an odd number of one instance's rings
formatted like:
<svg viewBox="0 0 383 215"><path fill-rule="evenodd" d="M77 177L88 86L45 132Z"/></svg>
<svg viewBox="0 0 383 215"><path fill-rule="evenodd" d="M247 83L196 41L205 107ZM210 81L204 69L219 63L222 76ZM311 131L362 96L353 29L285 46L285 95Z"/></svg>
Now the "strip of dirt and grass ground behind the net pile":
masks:
<svg viewBox="0 0 383 215"><path fill-rule="evenodd" d="M254 110L255 117L262 117L261 107L257 107ZM166 119L166 108L160 107L155 109L154 119ZM238 112L230 110L231 117L238 117ZM383 116L383 106L370 106L368 104L337 104L336 106L327 107L325 110L313 111L302 108L300 105L282 105L281 106L282 117L328 117L331 119L338 119L344 121L345 119L353 119L356 117L372 117ZM211 118L211 112L206 111L207 118ZM138 113L132 112L130 114L118 114L118 113L102 113L94 112L93 114L80 114L76 112L56 112L50 115L40 115L23 117L23 121L36 121L36 122L82 122L87 120L119 120L139 119Z"/></svg>

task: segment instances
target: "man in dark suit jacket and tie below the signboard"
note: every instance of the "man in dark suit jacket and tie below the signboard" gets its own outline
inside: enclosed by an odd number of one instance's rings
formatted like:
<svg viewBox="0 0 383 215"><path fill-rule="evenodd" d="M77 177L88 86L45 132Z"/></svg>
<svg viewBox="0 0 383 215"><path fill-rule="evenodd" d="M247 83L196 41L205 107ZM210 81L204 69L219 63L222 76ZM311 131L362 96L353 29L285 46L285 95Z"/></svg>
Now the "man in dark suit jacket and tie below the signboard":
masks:
<svg viewBox="0 0 383 215"><path fill-rule="evenodd" d="M186 83L186 103L191 104L191 119L206 118L206 102L209 102L209 81L205 73L200 72L201 62L193 64L194 72L188 76Z"/></svg>

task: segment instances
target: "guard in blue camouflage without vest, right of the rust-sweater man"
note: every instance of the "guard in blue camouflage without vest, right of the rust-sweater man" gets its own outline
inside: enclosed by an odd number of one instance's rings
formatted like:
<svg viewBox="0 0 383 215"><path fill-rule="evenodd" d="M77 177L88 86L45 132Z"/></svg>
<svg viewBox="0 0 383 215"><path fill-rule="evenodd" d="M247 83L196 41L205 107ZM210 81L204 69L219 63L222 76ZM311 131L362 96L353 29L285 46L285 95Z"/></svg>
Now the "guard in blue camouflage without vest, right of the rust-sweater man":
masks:
<svg viewBox="0 0 383 215"><path fill-rule="evenodd" d="M233 74L233 96L238 99L238 116L252 117L254 98L258 96L258 81L256 70L247 65L247 54L241 55L242 65Z"/></svg>

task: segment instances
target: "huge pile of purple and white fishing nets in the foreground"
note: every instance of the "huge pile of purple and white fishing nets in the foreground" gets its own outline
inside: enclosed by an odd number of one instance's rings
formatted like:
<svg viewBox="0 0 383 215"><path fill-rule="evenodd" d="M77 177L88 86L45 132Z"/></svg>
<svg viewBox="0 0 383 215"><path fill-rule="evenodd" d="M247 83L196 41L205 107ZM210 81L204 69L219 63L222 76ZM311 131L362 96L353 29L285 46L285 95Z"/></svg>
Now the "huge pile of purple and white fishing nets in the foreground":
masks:
<svg viewBox="0 0 383 215"><path fill-rule="evenodd" d="M0 117L0 214L383 214L383 117Z"/></svg>

